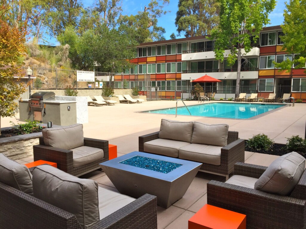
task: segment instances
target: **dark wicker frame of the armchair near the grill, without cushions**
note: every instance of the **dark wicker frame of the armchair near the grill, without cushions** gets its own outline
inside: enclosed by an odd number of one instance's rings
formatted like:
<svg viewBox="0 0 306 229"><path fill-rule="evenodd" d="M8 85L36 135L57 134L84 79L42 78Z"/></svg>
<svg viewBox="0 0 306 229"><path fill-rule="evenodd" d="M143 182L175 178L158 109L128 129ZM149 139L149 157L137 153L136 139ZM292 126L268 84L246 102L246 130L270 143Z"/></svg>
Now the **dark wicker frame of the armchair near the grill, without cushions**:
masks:
<svg viewBox="0 0 306 229"><path fill-rule="evenodd" d="M108 141L84 138L84 146L103 149L104 158L80 167L73 167L73 151L46 146L43 137L39 137L39 145L33 146L34 161L45 160L56 162L58 169L74 176L81 176L95 169L100 169L99 164L109 160Z"/></svg>

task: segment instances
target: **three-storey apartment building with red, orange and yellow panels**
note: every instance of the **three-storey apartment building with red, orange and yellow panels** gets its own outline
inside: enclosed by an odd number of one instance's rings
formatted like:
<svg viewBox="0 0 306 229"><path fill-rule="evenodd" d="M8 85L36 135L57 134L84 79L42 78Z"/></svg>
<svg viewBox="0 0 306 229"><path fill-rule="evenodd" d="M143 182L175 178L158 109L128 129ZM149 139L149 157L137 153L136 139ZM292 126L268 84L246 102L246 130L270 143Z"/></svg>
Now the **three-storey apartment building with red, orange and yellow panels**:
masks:
<svg viewBox="0 0 306 229"><path fill-rule="evenodd" d="M265 27L260 32L259 40L251 39L252 50L244 54L241 63L241 92L259 93L292 93L295 98L306 100L305 68L279 71L273 61L282 62L296 58L298 54L282 51L280 26ZM157 87L162 97L179 98L184 89L190 88L190 81L205 74L221 80L218 83L206 83L206 87L217 93L233 90L237 79L237 63L227 65L224 61L215 60L214 41L206 36L180 38L174 40L142 43L137 47L135 64L125 74L150 74L150 86ZM244 53L244 49L242 50ZM138 82L144 90L144 82Z"/></svg>

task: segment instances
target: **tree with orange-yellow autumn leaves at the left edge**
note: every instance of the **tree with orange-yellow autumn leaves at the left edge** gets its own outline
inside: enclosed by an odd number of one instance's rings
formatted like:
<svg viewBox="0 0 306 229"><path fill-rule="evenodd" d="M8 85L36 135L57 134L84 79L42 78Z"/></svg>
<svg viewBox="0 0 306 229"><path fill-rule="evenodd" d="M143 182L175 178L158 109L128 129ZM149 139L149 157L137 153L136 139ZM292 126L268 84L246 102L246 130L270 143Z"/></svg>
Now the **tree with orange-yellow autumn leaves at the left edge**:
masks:
<svg viewBox="0 0 306 229"><path fill-rule="evenodd" d="M18 107L14 100L19 99L26 91L22 82L17 83L20 78L14 79L14 76L22 76L22 70L16 63L25 52L26 27L12 27L5 19L2 8L0 9L0 128L1 117L13 116L13 112Z"/></svg>

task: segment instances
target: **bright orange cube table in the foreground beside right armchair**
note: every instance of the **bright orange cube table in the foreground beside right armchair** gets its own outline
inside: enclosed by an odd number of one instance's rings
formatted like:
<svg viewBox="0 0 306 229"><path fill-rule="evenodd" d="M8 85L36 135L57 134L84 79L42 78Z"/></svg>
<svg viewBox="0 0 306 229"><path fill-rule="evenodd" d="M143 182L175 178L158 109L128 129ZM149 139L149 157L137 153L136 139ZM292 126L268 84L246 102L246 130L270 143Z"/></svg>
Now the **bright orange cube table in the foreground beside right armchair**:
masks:
<svg viewBox="0 0 306 229"><path fill-rule="evenodd" d="M245 229L246 215L204 205L188 220L188 229Z"/></svg>

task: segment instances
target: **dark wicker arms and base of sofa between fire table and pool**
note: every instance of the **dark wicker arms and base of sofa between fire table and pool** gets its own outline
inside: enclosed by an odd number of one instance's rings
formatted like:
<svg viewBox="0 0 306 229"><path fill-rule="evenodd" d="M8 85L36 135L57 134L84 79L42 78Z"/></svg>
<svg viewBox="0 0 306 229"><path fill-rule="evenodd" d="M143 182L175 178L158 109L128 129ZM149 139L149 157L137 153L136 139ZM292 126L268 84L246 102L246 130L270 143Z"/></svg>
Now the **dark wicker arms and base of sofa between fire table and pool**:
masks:
<svg viewBox="0 0 306 229"><path fill-rule="evenodd" d="M158 139L159 131L139 137L139 151L144 151L144 143ZM227 145L221 149L221 165L203 163L200 171L225 176L228 180L229 174L234 170L236 162L244 162L244 139L238 138L238 132L229 131ZM201 162L202 163L202 162Z"/></svg>

